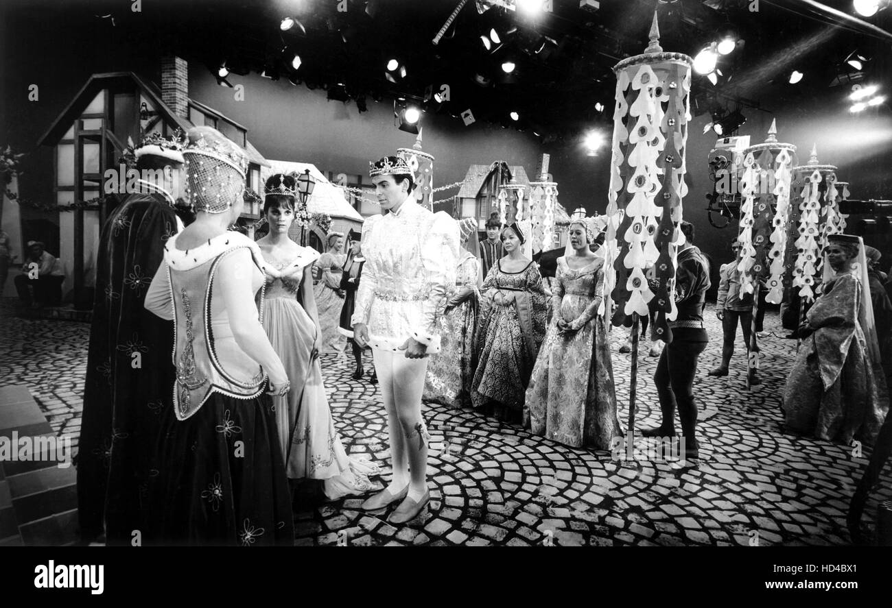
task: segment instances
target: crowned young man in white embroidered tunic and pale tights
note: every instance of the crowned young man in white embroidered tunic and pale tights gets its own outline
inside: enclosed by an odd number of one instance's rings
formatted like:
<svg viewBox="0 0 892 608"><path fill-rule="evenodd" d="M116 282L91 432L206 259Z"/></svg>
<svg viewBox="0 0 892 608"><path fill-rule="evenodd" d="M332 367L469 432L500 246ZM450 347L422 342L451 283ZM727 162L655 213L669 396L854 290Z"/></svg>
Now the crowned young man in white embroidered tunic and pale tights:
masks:
<svg viewBox="0 0 892 608"><path fill-rule="evenodd" d="M458 224L420 206L405 160L370 163L369 176L386 215L366 219L366 263L351 318L353 340L372 349L390 433L393 477L362 508L401 501L389 522L413 519L430 500L427 433L421 415L428 356L440 351L439 318L455 283Z"/></svg>

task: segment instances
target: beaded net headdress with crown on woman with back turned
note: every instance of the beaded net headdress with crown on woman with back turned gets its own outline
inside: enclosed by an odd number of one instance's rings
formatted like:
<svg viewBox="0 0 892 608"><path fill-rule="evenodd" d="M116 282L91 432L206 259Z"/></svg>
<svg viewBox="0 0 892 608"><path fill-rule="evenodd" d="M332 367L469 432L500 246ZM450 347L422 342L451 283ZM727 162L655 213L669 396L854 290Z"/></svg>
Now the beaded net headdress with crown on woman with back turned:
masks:
<svg viewBox="0 0 892 608"><path fill-rule="evenodd" d="M183 157L189 204L195 211L224 213L242 194L248 158L215 128L193 127L187 136Z"/></svg>

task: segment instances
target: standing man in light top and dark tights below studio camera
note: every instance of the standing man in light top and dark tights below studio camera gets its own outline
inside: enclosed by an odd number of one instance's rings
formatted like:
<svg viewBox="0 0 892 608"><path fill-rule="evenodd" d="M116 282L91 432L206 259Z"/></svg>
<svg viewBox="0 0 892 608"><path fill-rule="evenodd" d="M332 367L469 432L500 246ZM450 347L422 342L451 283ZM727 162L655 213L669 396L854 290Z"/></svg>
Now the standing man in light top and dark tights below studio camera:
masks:
<svg viewBox="0 0 892 608"><path fill-rule="evenodd" d="M737 269L737 258L740 251L740 243L731 243L731 251L734 259L728 264L723 264L719 270L719 295L715 300L715 316L722 321L723 346L722 365L709 372L711 376L728 375L728 366L731 365L731 355L734 354L734 341L737 339L737 323L740 321L740 329L743 330L743 341L747 352L750 346L751 330L753 325L753 294L740 293L740 273ZM756 345L756 352L759 347ZM750 377L750 384L759 384L761 381L756 372Z"/></svg>

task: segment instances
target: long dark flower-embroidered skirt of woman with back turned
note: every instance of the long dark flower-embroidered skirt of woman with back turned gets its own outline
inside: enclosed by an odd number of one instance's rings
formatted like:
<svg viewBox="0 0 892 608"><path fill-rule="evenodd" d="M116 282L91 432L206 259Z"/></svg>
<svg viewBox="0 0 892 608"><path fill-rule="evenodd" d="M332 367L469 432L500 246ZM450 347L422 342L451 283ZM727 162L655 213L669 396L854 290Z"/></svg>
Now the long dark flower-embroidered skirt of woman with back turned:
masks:
<svg viewBox="0 0 892 608"><path fill-rule="evenodd" d="M293 546L291 493L267 395L216 393L182 422L170 408L157 462L151 543Z"/></svg>

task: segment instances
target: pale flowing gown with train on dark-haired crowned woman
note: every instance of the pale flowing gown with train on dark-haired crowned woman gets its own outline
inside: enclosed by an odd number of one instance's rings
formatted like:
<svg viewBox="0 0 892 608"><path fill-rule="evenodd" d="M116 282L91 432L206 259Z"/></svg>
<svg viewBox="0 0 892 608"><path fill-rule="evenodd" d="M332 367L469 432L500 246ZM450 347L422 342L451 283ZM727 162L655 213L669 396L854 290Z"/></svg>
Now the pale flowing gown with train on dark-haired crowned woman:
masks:
<svg viewBox="0 0 892 608"><path fill-rule="evenodd" d="M287 262L270 259L266 252L264 257L277 270L301 269L312 264L318 252L301 247L297 258ZM300 288L300 280L277 278L263 299L263 329L291 381L288 395L273 398L285 470L290 479L324 480L326 497L333 500L362 494L372 489L368 475L377 468L348 456L335 430L319 358L310 358L316 324L297 300Z"/></svg>

